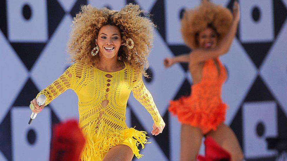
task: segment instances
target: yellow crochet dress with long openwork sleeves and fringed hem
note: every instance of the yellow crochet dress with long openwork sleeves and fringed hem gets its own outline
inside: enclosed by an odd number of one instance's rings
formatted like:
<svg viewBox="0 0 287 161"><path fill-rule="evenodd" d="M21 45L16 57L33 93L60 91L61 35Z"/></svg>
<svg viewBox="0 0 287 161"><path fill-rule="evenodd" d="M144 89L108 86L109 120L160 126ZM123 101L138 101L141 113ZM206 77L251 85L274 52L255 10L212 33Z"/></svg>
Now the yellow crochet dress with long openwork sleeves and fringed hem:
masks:
<svg viewBox="0 0 287 161"><path fill-rule="evenodd" d="M164 124L150 92L143 84L142 74L126 62L125 68L116 72L104 72L75 63L39 94L46 96L48 105L67 89L74 90L79 98L79 126L86 137L81 160L102 160L110 148L126 144L127 140L134 155L137 158L142 156L138 145L144 148L147 133L129 128L125 123L126 104L131 91L151 114L156 126Z"/></svg>

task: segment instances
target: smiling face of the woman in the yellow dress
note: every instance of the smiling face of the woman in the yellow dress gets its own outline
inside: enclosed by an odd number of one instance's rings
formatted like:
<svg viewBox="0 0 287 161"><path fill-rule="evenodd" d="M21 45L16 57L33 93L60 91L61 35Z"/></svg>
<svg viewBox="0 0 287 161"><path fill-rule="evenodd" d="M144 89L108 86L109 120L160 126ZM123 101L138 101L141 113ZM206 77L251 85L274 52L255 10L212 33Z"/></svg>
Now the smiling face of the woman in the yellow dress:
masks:
<svg viewBox="0 0 287 161"><path fill-rule="evenodd" d="M106 25L99 30L96 43L99 46L99 54L107 59L118 56L121 47L121 33L117 26Z"/></svg>

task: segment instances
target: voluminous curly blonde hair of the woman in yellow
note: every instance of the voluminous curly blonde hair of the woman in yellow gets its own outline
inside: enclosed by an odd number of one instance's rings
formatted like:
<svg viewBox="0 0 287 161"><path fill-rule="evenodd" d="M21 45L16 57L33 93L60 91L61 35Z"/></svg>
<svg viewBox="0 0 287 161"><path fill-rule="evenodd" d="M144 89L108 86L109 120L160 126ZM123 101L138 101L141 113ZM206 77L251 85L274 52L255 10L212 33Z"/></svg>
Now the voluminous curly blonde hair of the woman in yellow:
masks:
<svg viewBox="0 0 287 161"><path fill-rule="evenodd" d="M152 48L155 25L146 17L145 11L139 8L139 5L128 4L120 11L114 11L97 9L90 5L82 6L74 17L68 42L72 62L97 67L99 55L92 56L91 50L95 47L99 30L102 26L114 25L119 28L123 42L128 38L134 41L133 49L124 45L120 47L118 59L129 62L146 76L144 69L148 68L147 57ZM142 14L145 16L141 16Z"/></svg>

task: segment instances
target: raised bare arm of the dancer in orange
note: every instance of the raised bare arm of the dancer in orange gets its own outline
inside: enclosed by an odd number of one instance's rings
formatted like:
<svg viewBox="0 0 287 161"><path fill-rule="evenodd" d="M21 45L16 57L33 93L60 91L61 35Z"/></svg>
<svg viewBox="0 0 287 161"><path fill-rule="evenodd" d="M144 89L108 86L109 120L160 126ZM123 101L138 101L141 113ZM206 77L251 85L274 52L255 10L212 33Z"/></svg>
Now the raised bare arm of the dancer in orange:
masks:
<svg viewBox="0 0 287 161"><path fill-rule="evenodd" d="M195 49L190 54L190 62L197 63L211 58L218 57L228 52L233 38L237 31L238 21L240 18L239 5L235 1L233 5L233 22L228 33L222 38L215 48L212 49Z"/></svg>

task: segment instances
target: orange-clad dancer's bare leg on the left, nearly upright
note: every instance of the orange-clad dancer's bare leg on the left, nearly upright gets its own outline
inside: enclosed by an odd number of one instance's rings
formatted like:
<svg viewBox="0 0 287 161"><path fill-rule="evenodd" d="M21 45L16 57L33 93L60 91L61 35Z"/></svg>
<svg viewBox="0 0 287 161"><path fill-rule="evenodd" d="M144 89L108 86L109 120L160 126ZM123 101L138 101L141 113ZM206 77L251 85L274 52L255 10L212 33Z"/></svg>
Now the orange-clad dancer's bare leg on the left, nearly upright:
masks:
<svg viewBox="0 0 287 161"><path fill-rule="evenodd" d="M181 125L180 160L196 160L201 145L203 134L197 127L187 124Z"/></svg>

